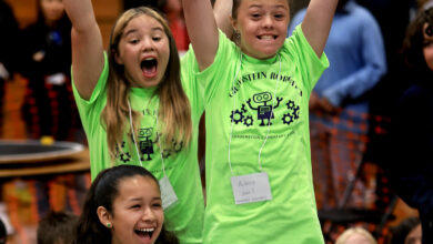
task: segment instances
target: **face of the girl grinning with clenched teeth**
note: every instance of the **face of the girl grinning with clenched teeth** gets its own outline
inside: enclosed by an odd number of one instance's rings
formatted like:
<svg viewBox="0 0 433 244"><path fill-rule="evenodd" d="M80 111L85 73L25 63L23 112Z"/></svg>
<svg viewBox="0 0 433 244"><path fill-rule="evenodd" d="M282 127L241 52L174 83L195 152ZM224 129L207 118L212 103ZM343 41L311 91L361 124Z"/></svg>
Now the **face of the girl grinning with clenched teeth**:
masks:
<svg viewBox="0 0 433 244"><path fill-rule="evenodd" d="M241 34L242 51L268 59L283 45L290 20L286 0L242 0L233 28Z"/></svg>

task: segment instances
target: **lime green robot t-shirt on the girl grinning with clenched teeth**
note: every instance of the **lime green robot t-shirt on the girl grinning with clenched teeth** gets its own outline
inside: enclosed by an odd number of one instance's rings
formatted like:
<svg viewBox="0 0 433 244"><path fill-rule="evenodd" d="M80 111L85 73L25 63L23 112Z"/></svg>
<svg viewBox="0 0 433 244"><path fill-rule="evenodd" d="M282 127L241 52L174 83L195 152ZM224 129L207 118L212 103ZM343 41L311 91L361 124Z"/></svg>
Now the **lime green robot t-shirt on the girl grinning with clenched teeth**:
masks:
<svg viewBox="0 0 433 244"><path fill-rule="evenodd" d="M205 87L203 243L324 243L312 182L309 98L328 67L300 27L268 60L241 54L220 32L214 62L195 78ZM269 176L272 200L235 204L231 177L259 172Z"/></svg>

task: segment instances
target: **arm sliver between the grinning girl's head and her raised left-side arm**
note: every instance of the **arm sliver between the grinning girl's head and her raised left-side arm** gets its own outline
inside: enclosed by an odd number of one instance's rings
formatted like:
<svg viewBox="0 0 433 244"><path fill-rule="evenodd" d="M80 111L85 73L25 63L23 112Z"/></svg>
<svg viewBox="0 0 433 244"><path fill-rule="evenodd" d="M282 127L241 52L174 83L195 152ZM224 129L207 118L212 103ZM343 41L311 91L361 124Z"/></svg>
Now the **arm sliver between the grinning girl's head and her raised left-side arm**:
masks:
<svg viewBox="0 0 433 244"><path fill-rule="evenodd" d="M229 39L233 35L233 27L230 21L232 8L233 0L216 0L213 6L213 14L215 16L216 26Z"/></svg>

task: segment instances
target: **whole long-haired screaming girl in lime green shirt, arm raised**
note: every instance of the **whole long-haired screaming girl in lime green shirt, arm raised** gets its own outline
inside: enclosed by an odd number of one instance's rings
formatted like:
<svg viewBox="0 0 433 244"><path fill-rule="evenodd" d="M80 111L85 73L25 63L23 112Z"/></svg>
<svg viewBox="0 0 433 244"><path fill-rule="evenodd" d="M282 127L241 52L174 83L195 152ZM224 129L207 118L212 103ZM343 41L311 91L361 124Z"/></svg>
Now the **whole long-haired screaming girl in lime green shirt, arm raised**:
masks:
<svg viewBox="0 0 433 244"><path fill-rule="evenodd" d="M203 95L198 82L185 79L192 71L180 69L165 20L144 7L125 11L104 52L91 0L63 1L72 21L73 92L92 179L113 165L145 167L160 182L167 230L180 243L201 243L197 132Z"/></svg>

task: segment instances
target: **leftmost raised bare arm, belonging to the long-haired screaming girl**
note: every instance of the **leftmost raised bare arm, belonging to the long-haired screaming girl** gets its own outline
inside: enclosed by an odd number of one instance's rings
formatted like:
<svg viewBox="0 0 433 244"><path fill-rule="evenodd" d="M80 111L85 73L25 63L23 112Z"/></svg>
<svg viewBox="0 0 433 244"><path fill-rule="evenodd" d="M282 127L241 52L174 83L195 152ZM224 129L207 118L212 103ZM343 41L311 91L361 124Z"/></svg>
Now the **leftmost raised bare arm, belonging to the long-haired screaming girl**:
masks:
<svg viewBox="0 0 433 244"><path fill-rule="evenodd" d="M72 72L81 98L89 100L103 69L102 35L91 0L63 0L72 22Z"/></svg>

